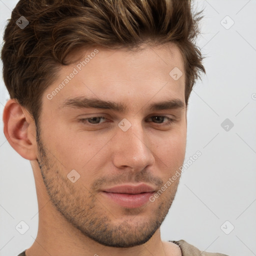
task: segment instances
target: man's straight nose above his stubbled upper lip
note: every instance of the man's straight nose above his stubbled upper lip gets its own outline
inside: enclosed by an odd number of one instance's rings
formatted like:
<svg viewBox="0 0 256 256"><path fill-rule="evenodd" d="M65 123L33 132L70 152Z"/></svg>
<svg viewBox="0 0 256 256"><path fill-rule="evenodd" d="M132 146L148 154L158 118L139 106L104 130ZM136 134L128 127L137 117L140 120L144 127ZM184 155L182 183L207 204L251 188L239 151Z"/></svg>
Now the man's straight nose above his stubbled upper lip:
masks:
<svg viewBox="0 0 256 256"><path fill-rule="evenodd" d="M112 143L112 161L116 168L141 171L153 165L152 144L141 124L132 123L126 131L118 128Z"/></svg>

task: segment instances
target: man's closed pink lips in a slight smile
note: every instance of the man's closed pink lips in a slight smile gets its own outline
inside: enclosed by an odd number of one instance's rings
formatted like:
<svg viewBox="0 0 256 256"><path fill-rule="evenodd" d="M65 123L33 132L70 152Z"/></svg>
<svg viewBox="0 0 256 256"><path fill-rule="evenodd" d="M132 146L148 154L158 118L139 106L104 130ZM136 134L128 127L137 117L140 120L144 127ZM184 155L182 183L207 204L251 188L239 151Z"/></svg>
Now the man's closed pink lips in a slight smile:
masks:
<svg viewBox="0 0 256 256"><path fill-rule="evenodd" d="M149 201L149 197L155 193L155 189L146 184L126 184L103 189L101 192L115 204L125 208L137 208Z"/></svg>

